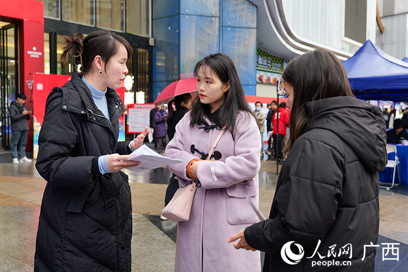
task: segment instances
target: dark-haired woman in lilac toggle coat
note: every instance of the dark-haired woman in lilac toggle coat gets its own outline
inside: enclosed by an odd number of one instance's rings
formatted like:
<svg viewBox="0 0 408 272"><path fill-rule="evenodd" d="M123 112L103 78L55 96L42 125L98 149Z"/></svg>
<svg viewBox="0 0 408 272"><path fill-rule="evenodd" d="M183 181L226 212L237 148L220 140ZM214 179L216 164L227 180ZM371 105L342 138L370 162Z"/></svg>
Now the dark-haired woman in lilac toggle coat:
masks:
<svg viewBox="0 0 408 272"><path fill-rule="evenodd" d="M260 271L259 252L236 251L226 242L231 233L259 221L246 200L259 201L257 121L228 56L210 55L194 73L199 96L165 152L184 160L168 166L180 187L199 181L190 220L177 229L175 271ZM224 126L214 158L203 160Z"/></svg>

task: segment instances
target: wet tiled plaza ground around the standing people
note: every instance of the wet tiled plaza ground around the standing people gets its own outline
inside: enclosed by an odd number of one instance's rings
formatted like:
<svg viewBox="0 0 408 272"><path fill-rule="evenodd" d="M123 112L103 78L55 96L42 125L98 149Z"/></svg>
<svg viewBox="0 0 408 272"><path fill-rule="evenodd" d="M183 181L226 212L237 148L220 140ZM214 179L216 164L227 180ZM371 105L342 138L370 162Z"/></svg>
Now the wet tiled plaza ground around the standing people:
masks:
<svg viewBox="0 0 408 272"><path fill-rule="evenodd" d="M265 215L269 214L275 192L275 171L274 162L261 162L260 209ZM173 271L176 223L159 218L170 172L158 168L126 173L130 176L134 212L132 271ZM0 163L0 271L33 271L35 236L45 184L34 162ZM407 191L405 187L380 190L381 236L377 244L400 245L398 261L382 261L382 250L377 251L376 271L408 271Z"/></svg>

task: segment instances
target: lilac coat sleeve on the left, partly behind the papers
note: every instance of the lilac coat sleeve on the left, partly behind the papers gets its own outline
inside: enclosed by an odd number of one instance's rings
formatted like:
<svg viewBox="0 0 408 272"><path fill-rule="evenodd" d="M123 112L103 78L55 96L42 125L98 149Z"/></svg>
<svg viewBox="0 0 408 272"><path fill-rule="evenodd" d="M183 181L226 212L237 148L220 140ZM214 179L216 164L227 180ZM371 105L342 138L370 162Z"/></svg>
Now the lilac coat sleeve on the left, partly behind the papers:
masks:
<svg viewBox="0 0 408 272"><path fill-rule="evenodd" d="M189 126L190 114L186 114L175 126L174 138L167 144L166 152L163 155L173 159L182 158L184 162L168 165L167 168L176 176L191 181L192 179L187 177L186 167L191 160L197 159L198 157L186 152L184 149L184 137L188 137L186 130Z"/></svg>

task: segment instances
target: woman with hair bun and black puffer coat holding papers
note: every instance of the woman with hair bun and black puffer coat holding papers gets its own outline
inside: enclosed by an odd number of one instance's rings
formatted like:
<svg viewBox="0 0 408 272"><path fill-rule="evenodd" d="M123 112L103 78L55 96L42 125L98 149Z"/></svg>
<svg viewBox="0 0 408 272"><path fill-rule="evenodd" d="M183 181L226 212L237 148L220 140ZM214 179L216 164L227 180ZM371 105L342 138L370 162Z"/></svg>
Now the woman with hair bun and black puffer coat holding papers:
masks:
<svg viewBox="0 0 408 272"><path fill-rule="evenodd" d="M108 30L65 36L62 58L81 64L48 95L36 167L47 181L38 224L35 271L131 271L132 198L120 169L143 143L118 142L124 107L114 89L132 47Z"/></svg>

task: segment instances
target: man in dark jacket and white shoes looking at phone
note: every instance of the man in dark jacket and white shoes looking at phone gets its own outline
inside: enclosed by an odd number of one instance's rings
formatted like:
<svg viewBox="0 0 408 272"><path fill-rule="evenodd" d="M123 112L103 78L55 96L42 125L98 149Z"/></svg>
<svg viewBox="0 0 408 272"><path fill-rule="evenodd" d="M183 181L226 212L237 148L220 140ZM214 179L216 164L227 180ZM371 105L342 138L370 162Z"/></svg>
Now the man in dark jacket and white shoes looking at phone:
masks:
<svg viewBox="0 0 408 272"><path fill-rule="evenodd" d="M25 156L25 145L27 144L27 133L29 131L28 120L31 119L31 110L25 105L25 100L27 100L27 96L19 93L16 101L11 102L9 108L12 133L10 151L14 164L18 164L20 161L32 161ZM20 160L18 160L18 157L20 157Z"/></svg>

